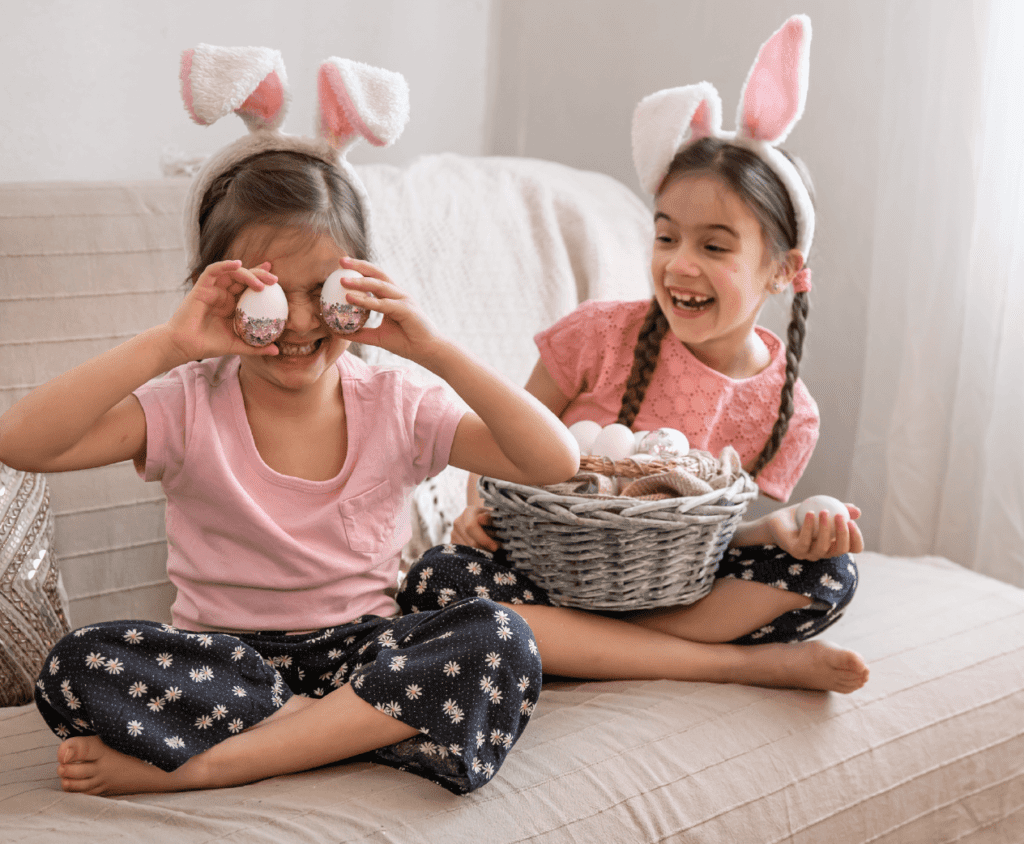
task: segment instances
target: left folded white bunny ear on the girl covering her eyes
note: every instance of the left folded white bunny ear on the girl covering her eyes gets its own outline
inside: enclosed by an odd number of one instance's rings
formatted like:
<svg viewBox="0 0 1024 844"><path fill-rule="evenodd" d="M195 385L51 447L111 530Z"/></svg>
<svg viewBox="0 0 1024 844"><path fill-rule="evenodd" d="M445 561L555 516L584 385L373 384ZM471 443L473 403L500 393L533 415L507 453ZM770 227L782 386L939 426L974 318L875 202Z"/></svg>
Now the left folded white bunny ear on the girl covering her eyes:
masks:
<svg viewBox="0 0 1024 844"><path fill-rule="evenodd" d="M200 44L181 54L181 99L208 126L236 112L249 127L276 129L288 112L288 77L278 50Z"/></svg>

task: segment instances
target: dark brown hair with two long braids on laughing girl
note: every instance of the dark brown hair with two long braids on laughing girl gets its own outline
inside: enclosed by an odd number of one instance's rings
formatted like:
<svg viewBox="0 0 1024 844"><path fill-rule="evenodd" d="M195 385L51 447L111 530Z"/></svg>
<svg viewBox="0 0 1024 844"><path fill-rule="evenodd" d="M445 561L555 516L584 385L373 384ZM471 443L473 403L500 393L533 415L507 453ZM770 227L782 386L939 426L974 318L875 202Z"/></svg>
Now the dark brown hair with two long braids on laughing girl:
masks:
<svg viewBox="0 0 1024 844"><path fill-rule="evenodd" d="M813 197L810 177L803 164L792 156L787 158L797 167ZM773 260L781 259L786 252L796 248L797 215L790 195L778 176L754 153L720 138L701 138L672 160L658 193L684 175L714 176L732 189L761 223L765 246ZM804 257L806 259L807 256ZM794 410L793 391L800 374L800 358L807 333L808 304L806 293L793 294L790 327L786 330L785 382L779 396L778 417L768 441L751 467L752 475L757 475L775 456L790 428ZM627 427L632 426L640 412L640 404L657 366L662 338L668 330L669 321L662 312L657 299L652 299L633 350L633 368L626 381L622 409L618 412L617 421Z"/></svg>

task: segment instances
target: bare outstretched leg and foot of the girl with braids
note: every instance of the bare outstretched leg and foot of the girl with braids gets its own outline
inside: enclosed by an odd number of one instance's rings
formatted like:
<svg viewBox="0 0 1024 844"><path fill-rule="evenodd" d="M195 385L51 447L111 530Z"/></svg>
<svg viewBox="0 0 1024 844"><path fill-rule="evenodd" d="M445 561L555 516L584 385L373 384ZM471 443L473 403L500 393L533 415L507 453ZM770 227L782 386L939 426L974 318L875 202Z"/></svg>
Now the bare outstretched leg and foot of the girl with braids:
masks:
<svg viewBox="0 0 1024 844"><path fill-rule="evenodd" d="M761 645L695 642L565 607L509 606L532 628L544 670L550 674L842 692L854 691L867 681L867 666L860 656L820 640Z"/></svg>

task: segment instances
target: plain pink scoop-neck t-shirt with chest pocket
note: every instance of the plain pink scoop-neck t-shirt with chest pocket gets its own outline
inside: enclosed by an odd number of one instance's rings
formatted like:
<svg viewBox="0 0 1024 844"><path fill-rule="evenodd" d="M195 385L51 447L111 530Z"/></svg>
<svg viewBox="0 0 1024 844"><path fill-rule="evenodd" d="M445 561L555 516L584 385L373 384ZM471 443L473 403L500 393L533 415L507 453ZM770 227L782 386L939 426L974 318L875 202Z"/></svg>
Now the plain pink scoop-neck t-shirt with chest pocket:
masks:
<svg viewBox="0 0 1024 844"><path fill-rule="evenodd" d="M260 458L239 358L187 364L136 390L145 480L167 495L167 571L186 630L309 630L391 616L413 488L447 465L464 407L408 372L338 361L348 451L337 477Z"/></svg>

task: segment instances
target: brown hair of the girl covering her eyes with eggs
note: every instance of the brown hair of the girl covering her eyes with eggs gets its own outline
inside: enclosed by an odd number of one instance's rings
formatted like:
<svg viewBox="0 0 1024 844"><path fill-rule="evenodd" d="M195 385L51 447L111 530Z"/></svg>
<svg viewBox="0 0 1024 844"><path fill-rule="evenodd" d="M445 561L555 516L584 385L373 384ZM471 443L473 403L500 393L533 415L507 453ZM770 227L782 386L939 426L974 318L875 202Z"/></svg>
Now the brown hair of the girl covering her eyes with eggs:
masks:
<svg viewBox="0 0 1024 844"><path fill-rule="evenodd" d="M273 151L239 162L206 192L190 282L209 264L231 257L226 253L239 235L259 224L329 235L352 257L369 258L362 204L341 170L304 153Z"/></svg>

